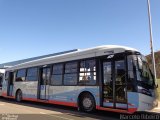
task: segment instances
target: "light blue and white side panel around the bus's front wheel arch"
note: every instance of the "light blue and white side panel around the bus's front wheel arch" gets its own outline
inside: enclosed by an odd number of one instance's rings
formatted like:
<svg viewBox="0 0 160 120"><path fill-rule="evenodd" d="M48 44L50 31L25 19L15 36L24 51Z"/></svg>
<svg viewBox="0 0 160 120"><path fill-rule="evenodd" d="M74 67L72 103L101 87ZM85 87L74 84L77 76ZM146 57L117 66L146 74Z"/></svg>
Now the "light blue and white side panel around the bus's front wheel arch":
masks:
<svg viewBox="0 0 160 120"><path fill-rule="evenodd" d="M49 90L49 100L50 101L59 101L68 104L73 104L77 106L78 96L83 91L90 92L95 100L96 104L99 105L99 89L97 86L85 87L85 86L50 86ZM69 105L71 106L71 105Z"/></svg>

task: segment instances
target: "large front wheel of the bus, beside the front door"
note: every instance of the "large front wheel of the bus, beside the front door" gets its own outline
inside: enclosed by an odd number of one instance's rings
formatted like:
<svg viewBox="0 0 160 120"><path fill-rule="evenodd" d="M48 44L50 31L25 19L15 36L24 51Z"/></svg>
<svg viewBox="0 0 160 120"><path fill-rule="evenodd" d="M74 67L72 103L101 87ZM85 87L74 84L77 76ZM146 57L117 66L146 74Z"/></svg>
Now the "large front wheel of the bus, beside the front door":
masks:
<svg viewBox="0 0 160 120"><path fill-rule="evenodd" d="M95 99L90 93L81 95L79 105L80 110L84 112L91 113L96 110Z"/></svg>

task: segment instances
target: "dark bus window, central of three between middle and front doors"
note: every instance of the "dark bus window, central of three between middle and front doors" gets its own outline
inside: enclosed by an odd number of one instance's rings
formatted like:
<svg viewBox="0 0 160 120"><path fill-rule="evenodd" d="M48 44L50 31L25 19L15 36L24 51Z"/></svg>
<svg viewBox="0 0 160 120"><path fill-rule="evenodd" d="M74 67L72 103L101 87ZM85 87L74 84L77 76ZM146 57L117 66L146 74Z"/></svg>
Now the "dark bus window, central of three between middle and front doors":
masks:
<svg viewBox="0 0 160 120"><path fill-rule="evenodd" d="M65 64L64 85L77 85L77 62Z"/></svg>

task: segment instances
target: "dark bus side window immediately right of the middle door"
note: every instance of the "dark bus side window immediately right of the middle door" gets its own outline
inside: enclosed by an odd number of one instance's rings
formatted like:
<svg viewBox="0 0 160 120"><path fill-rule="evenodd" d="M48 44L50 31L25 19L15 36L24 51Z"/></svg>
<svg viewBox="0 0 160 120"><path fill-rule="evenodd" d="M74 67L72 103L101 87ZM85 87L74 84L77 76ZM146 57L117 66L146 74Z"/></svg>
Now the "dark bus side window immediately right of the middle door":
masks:
<svg viewBox="0 0 160 120"><path fill-rule="evenodd" d="M63 64L53 65L51 85L62 85Z"/></svg>

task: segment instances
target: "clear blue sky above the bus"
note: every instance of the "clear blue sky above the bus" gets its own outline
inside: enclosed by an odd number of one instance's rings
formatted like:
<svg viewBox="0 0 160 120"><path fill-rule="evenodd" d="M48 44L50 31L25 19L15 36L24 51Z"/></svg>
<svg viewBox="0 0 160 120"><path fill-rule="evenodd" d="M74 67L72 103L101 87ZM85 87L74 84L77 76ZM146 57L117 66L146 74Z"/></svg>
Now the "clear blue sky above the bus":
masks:
<svg viewBox="0 0 160 120"><path fill-rule="evenodd" d="M160 50L160 0L150 0ZM150 53L147 0L0 0L0 63L123 45Z"/></svg>

